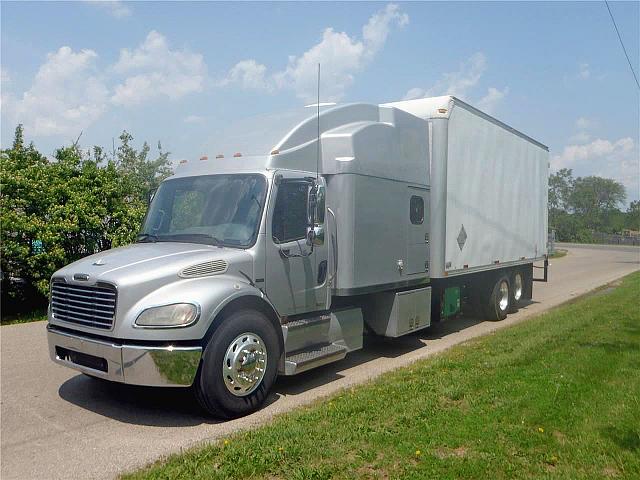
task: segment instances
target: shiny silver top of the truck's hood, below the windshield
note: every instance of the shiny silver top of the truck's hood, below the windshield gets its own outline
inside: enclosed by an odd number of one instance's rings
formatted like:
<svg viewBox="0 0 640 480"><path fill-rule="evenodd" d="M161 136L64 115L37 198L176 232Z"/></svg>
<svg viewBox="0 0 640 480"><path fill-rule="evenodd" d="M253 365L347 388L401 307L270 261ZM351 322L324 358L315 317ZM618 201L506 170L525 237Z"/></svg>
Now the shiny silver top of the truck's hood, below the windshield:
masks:
<svg viewBox="0 0 640 480"><path fill-rule="evenodd" d="M156 242L135 243L96 253L73 262L58 270L54 277L64 277L74 282L74 275L88 275L82 283L109 282L117 286L134 286L153 282L167 277L177 280L178 273L184 268L213 260L225 260L229 270L243 270L253 274L251 255L240 249L198 245L193 243ZM75 283L75 282L74 282Z"/></svg>

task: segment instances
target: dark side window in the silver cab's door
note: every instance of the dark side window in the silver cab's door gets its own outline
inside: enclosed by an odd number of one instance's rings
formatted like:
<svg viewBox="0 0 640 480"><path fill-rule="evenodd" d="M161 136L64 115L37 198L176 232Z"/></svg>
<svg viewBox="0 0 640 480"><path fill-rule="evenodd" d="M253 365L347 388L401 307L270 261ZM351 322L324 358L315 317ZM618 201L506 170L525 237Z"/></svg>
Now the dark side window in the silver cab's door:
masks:
<svg viewBox="0 0 640 480"><path fill-rule="evenodd" d="M278 186L271 225L275 243L306 238L308 187L306 182L283 182Z"/></svg>

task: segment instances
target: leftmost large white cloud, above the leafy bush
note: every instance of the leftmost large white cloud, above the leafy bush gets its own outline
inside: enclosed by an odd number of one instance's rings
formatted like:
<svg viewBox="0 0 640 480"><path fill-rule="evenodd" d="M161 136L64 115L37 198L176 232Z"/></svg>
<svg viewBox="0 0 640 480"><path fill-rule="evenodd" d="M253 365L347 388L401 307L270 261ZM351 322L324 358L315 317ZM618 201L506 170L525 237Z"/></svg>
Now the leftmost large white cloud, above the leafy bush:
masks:
<svg viewBox="0 0 640 480"><path fill-rule="evenodd" d="M105 111L108 91L96 69L93 50L61 47L47 55L31 88L21 98L3 98L14 123L38 135L78 135Z"/></svg>

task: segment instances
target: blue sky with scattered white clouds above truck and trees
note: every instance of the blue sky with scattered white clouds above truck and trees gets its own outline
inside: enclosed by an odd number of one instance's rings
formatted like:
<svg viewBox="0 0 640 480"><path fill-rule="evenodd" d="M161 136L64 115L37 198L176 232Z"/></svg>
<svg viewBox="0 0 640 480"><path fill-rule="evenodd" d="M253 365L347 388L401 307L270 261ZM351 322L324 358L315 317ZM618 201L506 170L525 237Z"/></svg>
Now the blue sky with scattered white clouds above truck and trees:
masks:
<svg viewBox="0 0 640 480"><path fill-rule="evenodd" d="M638 2L611 2L637 73ZM639 92L601 2L2 2L1 141L123 130L174 161L264 153L322 100L456 94L640 196Z"/></svg>

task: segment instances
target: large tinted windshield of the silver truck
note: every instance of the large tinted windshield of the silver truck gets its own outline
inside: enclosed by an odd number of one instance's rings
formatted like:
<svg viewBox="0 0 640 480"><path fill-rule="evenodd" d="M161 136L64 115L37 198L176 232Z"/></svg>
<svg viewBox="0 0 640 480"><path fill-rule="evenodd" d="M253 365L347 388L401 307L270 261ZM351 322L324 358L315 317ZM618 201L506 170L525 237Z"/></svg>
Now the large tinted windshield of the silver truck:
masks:
<svg viewBox="0 0 640 480"><path fill-rule="evenodd" d="M254 244L267 183L262 175L167 180L153 197L138 242Z"/></svg>

